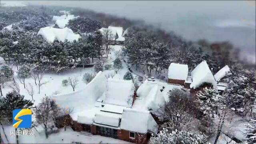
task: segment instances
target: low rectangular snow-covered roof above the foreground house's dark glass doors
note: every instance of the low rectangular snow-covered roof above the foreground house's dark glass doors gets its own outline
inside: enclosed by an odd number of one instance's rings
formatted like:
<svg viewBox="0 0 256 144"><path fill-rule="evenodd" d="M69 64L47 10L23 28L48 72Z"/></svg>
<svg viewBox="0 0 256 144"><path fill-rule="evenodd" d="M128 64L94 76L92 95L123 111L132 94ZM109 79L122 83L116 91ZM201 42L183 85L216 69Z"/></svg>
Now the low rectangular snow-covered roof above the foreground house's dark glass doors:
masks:
<svg viewBox="0 0 256 144"><path fill-rule="evenodd" d="M122 114L100 111L95 114L94 123L117 128L119 127L121 117Z"/></svg>

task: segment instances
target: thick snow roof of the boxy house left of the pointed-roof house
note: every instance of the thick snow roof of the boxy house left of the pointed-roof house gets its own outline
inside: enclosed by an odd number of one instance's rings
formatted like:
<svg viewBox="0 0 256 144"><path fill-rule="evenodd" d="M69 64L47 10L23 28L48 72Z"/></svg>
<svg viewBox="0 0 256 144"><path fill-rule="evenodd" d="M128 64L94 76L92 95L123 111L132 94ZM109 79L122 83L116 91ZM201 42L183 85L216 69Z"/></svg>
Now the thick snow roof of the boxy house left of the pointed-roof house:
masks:
<svg viewBox="0 0 256 144"><path fill-rule="evenodd" d="M188 65L171 63L168 68L168 78L186 80L188 77Z"/></svg>

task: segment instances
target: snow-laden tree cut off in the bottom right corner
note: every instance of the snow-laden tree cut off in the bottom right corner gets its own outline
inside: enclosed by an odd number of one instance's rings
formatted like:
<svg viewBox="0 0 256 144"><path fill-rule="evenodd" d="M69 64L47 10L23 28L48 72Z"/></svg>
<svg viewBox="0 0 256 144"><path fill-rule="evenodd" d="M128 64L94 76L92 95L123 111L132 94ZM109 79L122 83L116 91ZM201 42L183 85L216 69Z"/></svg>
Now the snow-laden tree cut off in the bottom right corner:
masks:
<svg viewBox="0 0 256 144"><path fill-rule="evenodd" d="M246 126L246 129L244 132L244 136L246 136L245 141L249 144L255 144L256 143L256 120L251 119L250 123L244 124Z"/></svg>

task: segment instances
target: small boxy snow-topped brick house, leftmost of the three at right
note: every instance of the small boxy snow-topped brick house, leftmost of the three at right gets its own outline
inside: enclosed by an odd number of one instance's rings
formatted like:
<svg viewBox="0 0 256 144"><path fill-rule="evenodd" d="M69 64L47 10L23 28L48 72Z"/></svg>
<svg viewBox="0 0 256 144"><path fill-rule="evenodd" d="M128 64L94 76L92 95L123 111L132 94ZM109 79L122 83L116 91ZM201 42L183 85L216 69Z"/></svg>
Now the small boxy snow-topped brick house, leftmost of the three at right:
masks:
<svg viewBox="0 0 256 144"><path fill-rule="evenodd" d="M168 83L184 85L188 77L188 65L171 63L168 68Z"/></svg>

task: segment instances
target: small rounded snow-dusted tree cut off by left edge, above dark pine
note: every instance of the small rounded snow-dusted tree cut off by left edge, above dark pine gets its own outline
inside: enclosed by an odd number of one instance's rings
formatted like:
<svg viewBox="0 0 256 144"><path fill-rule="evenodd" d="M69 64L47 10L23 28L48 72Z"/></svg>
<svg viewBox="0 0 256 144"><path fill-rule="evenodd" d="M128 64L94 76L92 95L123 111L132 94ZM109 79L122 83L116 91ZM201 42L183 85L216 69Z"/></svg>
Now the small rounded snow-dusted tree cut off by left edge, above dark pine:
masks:
<svg viewBox="0 0 256 144"><path fill-rule="evenodd" d="M2 88L1 88L1 81L3 80L10 80L13 78L13 70L12 68L10 68L8 65L3 65L0 67L0 92L1 92L1 96L3 96L2 94Z"/></svg>

